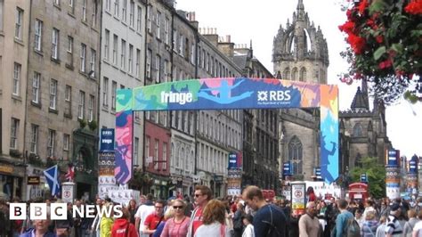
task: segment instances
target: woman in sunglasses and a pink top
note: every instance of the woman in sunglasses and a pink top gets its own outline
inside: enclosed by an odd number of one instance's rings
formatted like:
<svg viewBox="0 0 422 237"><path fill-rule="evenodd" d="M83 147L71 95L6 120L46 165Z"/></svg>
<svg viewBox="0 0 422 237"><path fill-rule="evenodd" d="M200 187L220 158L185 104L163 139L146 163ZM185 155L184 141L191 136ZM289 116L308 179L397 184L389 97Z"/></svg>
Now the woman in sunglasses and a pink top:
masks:
<svg viewBox="0 0 422 237"><path fill-rule="evenodd" d="M184 214L185 208L183 200L174 200L174 217L166 221L161 237L186 237L191 217Z"/></svg>

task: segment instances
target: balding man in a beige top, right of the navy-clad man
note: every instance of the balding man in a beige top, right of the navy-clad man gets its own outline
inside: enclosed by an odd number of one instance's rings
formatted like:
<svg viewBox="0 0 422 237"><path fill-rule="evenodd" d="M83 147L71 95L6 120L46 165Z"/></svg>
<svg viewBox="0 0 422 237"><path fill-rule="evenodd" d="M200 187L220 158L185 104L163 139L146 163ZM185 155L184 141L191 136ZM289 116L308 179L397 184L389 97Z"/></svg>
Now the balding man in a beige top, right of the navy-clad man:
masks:
<svg viewBox="0 0 422 237"><path fill-rule="evenodd" d="M299 218L299 237L318 237L320 221L313 201L306 203L306 213Z"/></svg>

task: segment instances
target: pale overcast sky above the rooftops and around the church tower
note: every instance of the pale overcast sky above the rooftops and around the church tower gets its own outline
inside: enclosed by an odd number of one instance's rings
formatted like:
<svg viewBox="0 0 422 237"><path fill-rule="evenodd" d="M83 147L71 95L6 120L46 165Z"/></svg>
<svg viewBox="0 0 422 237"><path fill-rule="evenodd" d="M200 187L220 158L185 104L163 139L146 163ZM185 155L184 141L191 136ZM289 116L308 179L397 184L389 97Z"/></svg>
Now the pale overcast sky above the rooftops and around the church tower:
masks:
<svg viewBox="0 0 422 237"><path fill-rule="evenodd" d="M308 12L315 27L320 26L329 45L329 84L339 86L340 110L348 110L361 82L347 86L337 75L347 71L347 62L339 55L345 50L345 36L338 26L345 22L341 11L341 0L304 0L304 11ZM272 41L282 25L292 21L297 0L176 0L176 8L195 12L199 28L216 29L220 37L231 36L231 42L240 45L252 40L254 56L266 69L272 68ZM386 109L387 135L394 149L410 158L422 156L422 102L410 105L400 101Z"/></svg>

